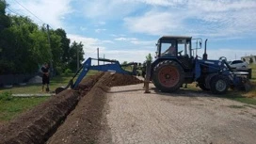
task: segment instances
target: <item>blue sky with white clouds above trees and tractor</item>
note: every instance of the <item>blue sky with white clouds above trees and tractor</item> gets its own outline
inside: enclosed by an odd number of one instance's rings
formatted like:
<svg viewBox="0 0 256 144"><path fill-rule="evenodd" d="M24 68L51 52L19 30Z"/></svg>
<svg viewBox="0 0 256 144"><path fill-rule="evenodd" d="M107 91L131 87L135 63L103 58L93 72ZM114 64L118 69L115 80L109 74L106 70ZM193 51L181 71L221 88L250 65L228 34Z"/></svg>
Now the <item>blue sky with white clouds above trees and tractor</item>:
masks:
<svg viewBox="0 0 256 144"><path fill-rule="evenodd" d="M62 28L85 58L143 62L162 36L208 39L211 59L256 56L256 0L7 0L7 12ZM204 42L203 42L204 43ZM204 47L204 44L202 45ZM203 49L198 55L203 54Z"/></svg>

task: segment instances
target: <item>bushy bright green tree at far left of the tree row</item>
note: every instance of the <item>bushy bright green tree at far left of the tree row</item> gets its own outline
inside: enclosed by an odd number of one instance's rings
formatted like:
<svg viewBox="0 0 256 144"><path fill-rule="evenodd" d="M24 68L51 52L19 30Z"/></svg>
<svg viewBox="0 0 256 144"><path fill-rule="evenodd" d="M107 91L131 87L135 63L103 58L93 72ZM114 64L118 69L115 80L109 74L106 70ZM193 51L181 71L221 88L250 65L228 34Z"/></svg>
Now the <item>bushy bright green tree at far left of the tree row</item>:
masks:
<svg viewBox="0 0 256 144"><path fill-rule="evenodd" d="M37 72L39 64L52 58L46 33L27 17L9 16L9 19L11 26L0 35L0 73Z"/></svg>

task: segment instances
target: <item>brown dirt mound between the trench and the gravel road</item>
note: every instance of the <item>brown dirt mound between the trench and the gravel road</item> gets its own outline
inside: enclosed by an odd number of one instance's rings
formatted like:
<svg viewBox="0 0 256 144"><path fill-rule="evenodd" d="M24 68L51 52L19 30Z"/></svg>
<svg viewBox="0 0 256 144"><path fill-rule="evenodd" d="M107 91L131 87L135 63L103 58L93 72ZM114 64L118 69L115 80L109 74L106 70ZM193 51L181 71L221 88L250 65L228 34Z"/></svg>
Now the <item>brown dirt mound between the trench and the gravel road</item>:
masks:
<svg viewBox="0 0 256 144"><path fill-rule="evenodd" d="M104 131L106 125L103 122L105 93L109 86L123 86L141 83L136 77L119 73L110 74L105 72L104 76L84 96L71 115L58 128L56 134L48 140L48 144L80 144L99 143L98 136L104 135L103 143L111 142L108 133ZM100 134L104 133L104 134Z"/></svg>

